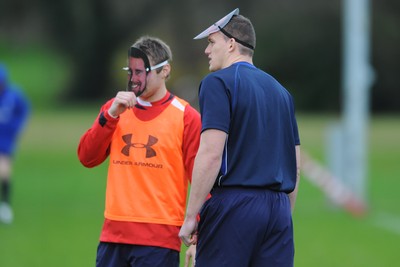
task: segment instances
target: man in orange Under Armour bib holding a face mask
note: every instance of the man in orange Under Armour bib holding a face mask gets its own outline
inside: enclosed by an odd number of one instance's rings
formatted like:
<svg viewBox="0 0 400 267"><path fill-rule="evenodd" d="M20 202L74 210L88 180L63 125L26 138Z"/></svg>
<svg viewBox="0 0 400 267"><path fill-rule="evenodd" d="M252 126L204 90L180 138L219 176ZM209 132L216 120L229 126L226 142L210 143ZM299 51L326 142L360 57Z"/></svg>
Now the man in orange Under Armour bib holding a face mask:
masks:
<svg viewBox="0 0 400 267"><path fill-rule="evenodd" d="M171 60L162 40L138 39L124 68L127 90L101 107L81 137L78 157L85 167L109 158L98 267L179 266L178 233L201 121L193 107L166 87ZM188 251L190 260L195 247Z"/></svg>

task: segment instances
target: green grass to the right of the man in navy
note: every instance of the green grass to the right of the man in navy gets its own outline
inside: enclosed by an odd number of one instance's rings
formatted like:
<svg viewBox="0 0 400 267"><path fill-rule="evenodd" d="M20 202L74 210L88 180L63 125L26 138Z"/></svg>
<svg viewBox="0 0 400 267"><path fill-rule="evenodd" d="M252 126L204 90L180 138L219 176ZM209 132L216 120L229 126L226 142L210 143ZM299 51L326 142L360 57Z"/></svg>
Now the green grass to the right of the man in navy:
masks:
<svg viewBox="0 0 400 267"><path fill-rule="evenodd" d="M299 116L303 149L321 162L326 117ZM370 123L368 204L364 218L334 208L305 177L295 220L296 266L395 266L400 260L400 118L374 117Z"/></svg>

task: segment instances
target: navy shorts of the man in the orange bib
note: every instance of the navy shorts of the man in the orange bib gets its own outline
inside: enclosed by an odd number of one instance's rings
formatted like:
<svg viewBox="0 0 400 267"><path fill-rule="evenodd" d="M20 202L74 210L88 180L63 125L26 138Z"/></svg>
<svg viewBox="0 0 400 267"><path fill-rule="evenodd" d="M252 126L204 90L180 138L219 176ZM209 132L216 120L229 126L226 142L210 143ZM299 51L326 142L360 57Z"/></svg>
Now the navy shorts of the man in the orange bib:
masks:
<svg viewBox="0 0 400 267"><path fill-rule="evenodd" d="M100 242L96 267L179 267L173 249Z"/></svg>

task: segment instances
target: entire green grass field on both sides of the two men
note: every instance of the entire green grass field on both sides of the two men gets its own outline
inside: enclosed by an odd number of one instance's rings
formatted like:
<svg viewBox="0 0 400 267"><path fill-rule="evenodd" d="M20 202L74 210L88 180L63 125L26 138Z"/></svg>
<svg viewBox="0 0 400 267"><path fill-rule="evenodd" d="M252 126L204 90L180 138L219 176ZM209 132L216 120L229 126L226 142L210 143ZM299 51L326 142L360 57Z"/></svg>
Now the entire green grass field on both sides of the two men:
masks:
<svg viewBox="0 0 400 267"><path fill-rule="evenodd" d="M14 171L15 222L0 225L0 266L94 266L106 164L82 167L80 135L97 110L33 114ZM304 150L322 159L329 118L299 115ZM400 118L373 118L365 218L331 207L303 177L294 216L296 266L395 266L400 260Z"/></svg>

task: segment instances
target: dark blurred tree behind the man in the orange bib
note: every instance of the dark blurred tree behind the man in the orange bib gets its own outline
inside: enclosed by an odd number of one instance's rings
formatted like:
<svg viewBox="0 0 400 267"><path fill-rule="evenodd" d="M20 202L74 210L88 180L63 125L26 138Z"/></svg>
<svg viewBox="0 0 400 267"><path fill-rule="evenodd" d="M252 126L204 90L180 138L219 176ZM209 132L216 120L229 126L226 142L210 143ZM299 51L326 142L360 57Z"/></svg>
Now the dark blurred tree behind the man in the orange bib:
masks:
<svg viewBox="0 0 400 267"><path fill-rule="evenodd" d="M166 3L147 0L39 1L52 42L68 55L71 63L71 84L67 85L63 98L85 101L107 95L112 84L115 51L128 36L156 18Z"/></svg>

